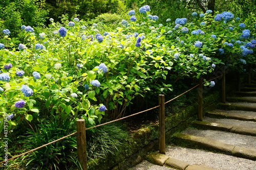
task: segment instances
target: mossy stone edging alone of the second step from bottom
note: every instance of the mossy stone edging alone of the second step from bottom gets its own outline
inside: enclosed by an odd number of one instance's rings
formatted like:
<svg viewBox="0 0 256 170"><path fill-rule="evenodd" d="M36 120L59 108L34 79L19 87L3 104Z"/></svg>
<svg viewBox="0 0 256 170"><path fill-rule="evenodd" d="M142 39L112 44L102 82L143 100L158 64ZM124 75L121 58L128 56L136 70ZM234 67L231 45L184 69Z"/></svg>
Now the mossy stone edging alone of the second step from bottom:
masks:
<svg viewBox="0 0 256 170"><path fill-rule="evenodd" d="M227 144L217 140L207 139L204 137L191 136L185 134L178 134L175 136L176 144L182 143L191 148L202 148L211 151L217 151L225 153L227 155L233 155L240 158L246 158L250 160L256 160L256 151L250 150L244 147L237 147L233 144Z"/></svg>

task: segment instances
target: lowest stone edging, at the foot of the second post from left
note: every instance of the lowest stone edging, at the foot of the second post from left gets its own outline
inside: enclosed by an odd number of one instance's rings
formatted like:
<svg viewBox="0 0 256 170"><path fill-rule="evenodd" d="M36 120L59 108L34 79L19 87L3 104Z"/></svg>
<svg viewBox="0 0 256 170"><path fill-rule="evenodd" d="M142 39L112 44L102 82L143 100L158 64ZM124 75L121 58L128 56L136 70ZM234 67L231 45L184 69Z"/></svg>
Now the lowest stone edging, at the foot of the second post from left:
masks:
<svg viewBox="0 0 256 170"><path fill-rule="evenodd" d="M179 170L217 170L215 168L205 166L205 165L197 165L197 164L189 165L189 163L187 162L183 162L175 158L169 158L168 156L157 153L157 152L149 154L146 157L147 157L147 160L153 164L157 164L160 166L163 166L165 164L168 167L172 167Z"/></svg>

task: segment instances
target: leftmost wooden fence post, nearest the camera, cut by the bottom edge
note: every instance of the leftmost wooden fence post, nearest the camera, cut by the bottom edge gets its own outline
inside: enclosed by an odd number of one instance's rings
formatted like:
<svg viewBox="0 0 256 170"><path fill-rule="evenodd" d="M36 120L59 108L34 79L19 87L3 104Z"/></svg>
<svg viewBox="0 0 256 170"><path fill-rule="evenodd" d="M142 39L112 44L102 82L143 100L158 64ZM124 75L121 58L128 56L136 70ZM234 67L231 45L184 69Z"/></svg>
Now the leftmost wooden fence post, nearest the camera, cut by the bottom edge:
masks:
<svg viewBox="0 0 256 170"><path fill-rule="evenodd" d="M76 120L77 129L77 157L82 170L87 170L87 151L86 151L86 121Z"/></svg>

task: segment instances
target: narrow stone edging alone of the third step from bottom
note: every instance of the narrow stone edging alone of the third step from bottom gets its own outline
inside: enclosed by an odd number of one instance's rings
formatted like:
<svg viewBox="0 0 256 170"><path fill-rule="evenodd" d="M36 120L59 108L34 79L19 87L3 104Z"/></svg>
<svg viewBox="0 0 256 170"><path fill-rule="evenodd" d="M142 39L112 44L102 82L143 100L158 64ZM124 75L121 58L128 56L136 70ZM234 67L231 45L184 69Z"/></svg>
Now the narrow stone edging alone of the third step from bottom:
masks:
<svg viewBox="0 0 256 170"><path fill-rule="evenodd" d="M221 131L226 131L231 133L238 133L242 135L256 136L256 129L254 128L244 128L240 126L232 126L232 125L226 125L226 124L201 122L201 121L194 122L193 126L196 128L221 130Z"/></svg>

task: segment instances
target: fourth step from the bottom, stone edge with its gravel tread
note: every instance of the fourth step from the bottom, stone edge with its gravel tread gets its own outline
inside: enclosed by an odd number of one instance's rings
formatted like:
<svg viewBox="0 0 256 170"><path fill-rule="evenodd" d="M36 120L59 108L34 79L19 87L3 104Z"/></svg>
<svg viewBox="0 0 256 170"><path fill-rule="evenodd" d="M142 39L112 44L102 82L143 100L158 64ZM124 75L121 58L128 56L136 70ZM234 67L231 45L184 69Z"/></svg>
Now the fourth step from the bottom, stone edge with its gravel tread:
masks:
<svg viewBox="0 0 256 170"><path fill-rule="evenodd" d="M256 122L256 112L252 112L252 111L215 110L215 111L207 111L205 114L213 118L230 118L230 119Z"/></svg>

